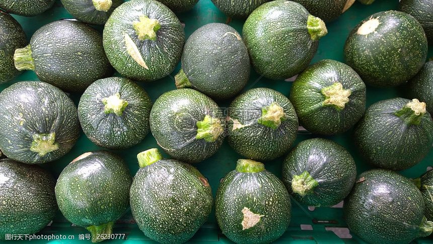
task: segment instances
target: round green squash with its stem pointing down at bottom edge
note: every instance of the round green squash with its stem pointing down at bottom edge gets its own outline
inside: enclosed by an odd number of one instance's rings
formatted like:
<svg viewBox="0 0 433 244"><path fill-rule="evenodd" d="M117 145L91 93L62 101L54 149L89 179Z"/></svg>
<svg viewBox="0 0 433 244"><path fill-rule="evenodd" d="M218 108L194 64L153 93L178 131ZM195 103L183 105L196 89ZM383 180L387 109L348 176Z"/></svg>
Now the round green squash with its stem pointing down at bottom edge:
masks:
<svg viewBox="0 0 433 244"><path fill-rule="evenodd" d="M86 152L63 169L55 197L63 216L99 242L112 234L114 222L127 210L131 183L122 158L108 151Z"/></svg>

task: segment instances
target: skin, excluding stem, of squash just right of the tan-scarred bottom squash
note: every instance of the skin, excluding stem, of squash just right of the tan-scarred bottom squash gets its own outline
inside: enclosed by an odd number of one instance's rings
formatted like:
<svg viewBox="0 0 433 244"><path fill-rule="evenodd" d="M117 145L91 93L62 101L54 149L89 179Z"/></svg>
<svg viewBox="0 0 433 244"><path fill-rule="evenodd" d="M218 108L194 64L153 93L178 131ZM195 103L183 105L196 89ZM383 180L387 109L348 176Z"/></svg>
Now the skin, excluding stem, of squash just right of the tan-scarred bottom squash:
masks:
<svg viewBox="0 0 433 244"><path fill-rule="evenodd" d="M293 176L308 172L319 184L304 197L293 193ZM302 204L330 207L341 202L355 183L353 157L342 146L322 138L301 141L284 159L282 181L289 193Z"/></svg>

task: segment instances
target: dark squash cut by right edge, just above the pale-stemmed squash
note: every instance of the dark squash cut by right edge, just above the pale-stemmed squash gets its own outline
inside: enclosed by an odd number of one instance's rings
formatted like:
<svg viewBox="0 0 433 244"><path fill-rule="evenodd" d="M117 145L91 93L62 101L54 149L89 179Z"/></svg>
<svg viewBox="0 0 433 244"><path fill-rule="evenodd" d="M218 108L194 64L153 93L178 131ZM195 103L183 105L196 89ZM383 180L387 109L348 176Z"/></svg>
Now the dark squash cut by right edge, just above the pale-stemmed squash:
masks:
<svg viewBox="0 0 433 244"><path fill-rule="evenodd" d="M427 104L428 113L433 114L433 61L426 62L424 67L409 80L409 98L417 98Z"/></svg>

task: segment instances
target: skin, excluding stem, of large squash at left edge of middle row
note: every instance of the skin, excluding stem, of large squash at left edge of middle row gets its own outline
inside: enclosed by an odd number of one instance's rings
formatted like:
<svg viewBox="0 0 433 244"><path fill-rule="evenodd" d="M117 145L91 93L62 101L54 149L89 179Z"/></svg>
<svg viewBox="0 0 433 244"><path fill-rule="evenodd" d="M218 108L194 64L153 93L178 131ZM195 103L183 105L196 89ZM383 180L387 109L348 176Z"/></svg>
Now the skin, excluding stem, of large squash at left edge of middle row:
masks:
<svg viewBox="0 0 433 244"><path fill-rule="evenodd" d="M80 136L77 107L62 91L43 82L19 82L0 93L0 149L27 164L56 160ZM34 134L55 133L58 149L39 156L30 147Z"/></svg>

